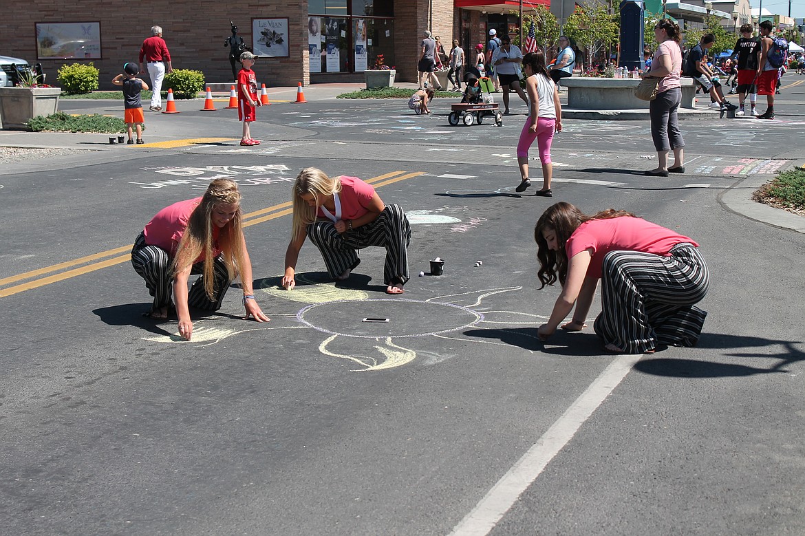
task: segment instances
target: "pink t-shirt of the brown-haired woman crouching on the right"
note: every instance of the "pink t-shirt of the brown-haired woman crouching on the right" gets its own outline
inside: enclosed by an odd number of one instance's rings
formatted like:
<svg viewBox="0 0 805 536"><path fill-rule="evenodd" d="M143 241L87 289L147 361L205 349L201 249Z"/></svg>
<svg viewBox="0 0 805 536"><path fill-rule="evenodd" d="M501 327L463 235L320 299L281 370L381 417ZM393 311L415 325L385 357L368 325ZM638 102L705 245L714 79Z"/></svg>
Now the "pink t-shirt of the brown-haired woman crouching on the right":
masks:
<svg viewBox="0 0 805 536"><path fill-rule="evenodd" d="M568 252L569 259L584 249L592 248L587 277L600 278L604 256L610 251L642 251L666 257L671 248L683 242L699 247L690 238L674 233L662 225L642 218L620 216L585 221L570 235L564 249Z"/></svg>

